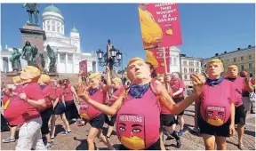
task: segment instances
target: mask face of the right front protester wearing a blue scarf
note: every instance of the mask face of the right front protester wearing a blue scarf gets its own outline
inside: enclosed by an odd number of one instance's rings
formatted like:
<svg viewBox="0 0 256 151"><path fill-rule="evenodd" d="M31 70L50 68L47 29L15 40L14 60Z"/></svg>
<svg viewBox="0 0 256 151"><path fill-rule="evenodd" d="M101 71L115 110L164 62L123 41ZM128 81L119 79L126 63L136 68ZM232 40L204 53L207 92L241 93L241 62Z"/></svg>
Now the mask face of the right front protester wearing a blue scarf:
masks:
<svg viewBox="0 0 256 151"><path fill-rule="evenodd" d="M220 76L220 74L223 72L223 68L220 66L220 63L218 62L212 62L208 65L207 68L207 75L211 77Z"/></svg>

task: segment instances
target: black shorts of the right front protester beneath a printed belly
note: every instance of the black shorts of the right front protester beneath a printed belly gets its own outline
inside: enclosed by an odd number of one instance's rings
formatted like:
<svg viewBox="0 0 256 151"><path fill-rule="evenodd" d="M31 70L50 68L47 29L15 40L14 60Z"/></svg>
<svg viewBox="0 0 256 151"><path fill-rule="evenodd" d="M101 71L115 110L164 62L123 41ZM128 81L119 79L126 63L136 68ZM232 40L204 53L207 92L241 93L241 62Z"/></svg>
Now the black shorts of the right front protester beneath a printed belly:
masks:
<svg viewBox="0 0 256 151"><path fill-rule="evenodd" d="M206 123L201 115L198 115L198 126L201 134L208 134L220 137L229 137L230 120L221 126L213 126Z"/></svg>

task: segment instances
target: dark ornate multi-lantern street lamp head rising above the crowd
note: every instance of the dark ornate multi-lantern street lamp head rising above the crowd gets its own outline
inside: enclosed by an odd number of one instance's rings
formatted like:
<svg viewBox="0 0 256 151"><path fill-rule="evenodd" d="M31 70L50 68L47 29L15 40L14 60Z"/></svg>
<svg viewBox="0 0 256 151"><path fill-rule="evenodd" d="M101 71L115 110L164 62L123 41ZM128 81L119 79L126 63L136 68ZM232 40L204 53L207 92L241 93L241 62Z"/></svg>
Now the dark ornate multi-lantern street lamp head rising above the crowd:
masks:
<svg viewBox="0 0 256 151"><path fill-rule="evenodd" d="M108 39L108 46L110 45L111 45L110 40ZM114 45L112 45L112 47L109 50L107 50L107 52L105 53L99 49L99 51L97 51L97 58L98 58L100 67L108 66L108 68L110 69L111 76L113 77L114 66L115 67L121 66L122 52L120 52L119 50L116 50Z"/></svg>

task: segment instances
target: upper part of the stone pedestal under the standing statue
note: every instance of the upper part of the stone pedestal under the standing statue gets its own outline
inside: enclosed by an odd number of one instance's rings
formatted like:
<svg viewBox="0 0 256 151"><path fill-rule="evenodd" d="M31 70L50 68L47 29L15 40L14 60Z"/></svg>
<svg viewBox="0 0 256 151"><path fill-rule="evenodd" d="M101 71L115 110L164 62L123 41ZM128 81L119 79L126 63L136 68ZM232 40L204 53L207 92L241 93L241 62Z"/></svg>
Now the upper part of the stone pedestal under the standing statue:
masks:
<svg viewBox="0 0 256 151"><path fill-rule="evenodd" d="M38 49L38 52L44 52L44 40L46 39L45 32L39 26L26 24L23 28L20 28L22 36L22 47L27 41Z"/></svg>

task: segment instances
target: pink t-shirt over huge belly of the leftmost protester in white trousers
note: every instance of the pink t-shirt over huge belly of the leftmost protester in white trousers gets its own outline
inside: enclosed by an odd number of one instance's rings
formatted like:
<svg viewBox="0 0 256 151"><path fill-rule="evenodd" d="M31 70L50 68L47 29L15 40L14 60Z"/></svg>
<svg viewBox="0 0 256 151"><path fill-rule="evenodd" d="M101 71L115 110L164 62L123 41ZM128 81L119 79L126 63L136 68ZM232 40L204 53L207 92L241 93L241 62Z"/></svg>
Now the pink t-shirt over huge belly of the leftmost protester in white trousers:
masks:
<svg viewBox="0 0 256 151"><path fill-rule="evenodd" d="M23 86L22 91L28 99L44 99L43 91L37 83L28 83ZM20 99L20 95L12 97L9 106L4 110L4 117L11 125L21 125L32 119L40 117L39 110Z"/></svg>

